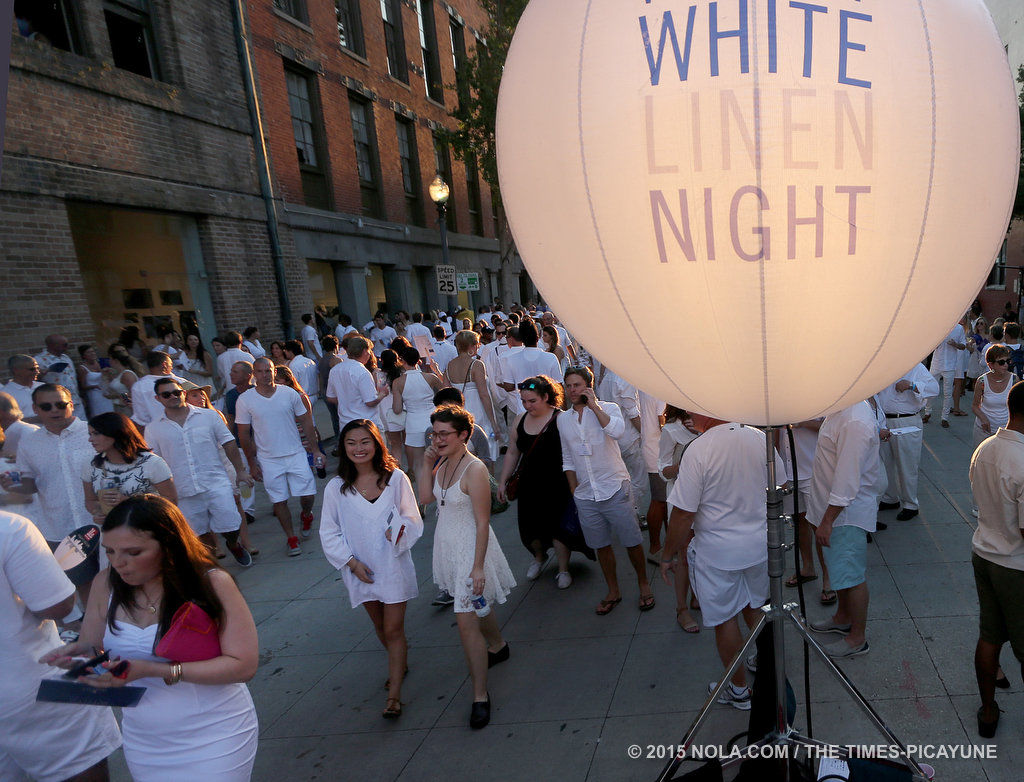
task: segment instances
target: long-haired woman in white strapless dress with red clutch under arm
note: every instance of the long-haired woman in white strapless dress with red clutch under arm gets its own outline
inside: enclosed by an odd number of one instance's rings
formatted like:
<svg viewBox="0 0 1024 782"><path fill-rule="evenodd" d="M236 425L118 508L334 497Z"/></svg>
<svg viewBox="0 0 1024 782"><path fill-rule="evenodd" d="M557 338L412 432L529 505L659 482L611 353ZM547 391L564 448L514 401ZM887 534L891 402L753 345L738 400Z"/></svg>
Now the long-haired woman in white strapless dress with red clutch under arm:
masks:
<svg viewBox="0 0 1024 782"><path fill-rule="evenodd" d="M244 683L256 672L259 650L239 588L161 496L121 503L103 521L102 544L111 567L93 580L79 640L41 661L69 668L72 657L90 657L97 648L111 655L104 668L127 661L119 676L108 671L88 683L145 688L138 705L124 710L121 726L136 782L247 782L258 726ZM210 659L177 662L155 653L186 604L213 620L219 654Z"/></svg>

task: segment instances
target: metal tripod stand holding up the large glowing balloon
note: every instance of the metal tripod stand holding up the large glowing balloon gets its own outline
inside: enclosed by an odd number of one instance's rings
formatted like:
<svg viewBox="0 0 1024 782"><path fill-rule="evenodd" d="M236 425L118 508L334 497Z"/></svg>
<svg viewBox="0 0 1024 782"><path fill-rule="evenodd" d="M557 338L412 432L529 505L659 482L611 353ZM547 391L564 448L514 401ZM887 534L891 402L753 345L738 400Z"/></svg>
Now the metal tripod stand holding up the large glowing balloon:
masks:
<svg viewBox="0 0 1024 782"><path fill-rule="evenodd" d="M686 759L686 752L689 750L690 746L692 746L697 733L708 720L719 694L725 687L728 686L732 676L736 672L739 666L743 664L743 661L746 659L746 655L754 648L758 636L760 636L761 633L769 625L772 627L775 658L775 729L760 741L751 744L749 749L754 750L761 747L787 747L790 757L797 756L801 749L803 749L806 753L811 754L811 756L821 756L825 753L829 756L846 756L847 753L843 748L830 745L824 741L817 741L809 736L801 735L792 725L790 725L788 715L786 713L785 636L783 632L787 622L791 622L794 625L797 634L804 640L804 643L814 650L817 656L825 664L825 667L840 681L854 703L860 706L861 710L867 715L868 720L870 720L879 732L886 737L889 742L889 746L899 748L900 759L903 761L907 770L912 775L913 782L928 782L928 777L925 775L925 772L918 765L918 763L910 757L903 742L900 741L895 734L893 734L889 726L886 725L885 721L883 721L882 716L874 710L871 704L867 702L864 696L860 694L860 691L857 690L856 686L846 672L836 665L825 650L811 635L810 631L808 631L807 625L800 616L797 604L784 603L782 600L782 576L784 574L785 564L783 554L787 547L784 542L783 535L785 526L785 516L782 514L783 489L778 485L777 476L775 474L774 431L775 427L767 427L765 430L765 443L767 446L766 457L768 464L767 506L768 580L770 585L769 602L768 605L761 610L761 615L758 617L757 623L751 631L751 635L746 639L746 643L743 644L743 647L736 653L732 662L729 663L728 668L719 680L718 686L712 691L711 695L708 696L708 700L705 701L705 704L701 706L696 719L694 719L689 729L687 729L686 734L679 741L679 752L662 771L662 774L657 777L657 782L671 782L676 770L682 762ZM729 758L723 763L723 768L739 764L743 759L745 758ZM788 762L781 764L781 767L784 769L782 779L788 781Z"/></svg>

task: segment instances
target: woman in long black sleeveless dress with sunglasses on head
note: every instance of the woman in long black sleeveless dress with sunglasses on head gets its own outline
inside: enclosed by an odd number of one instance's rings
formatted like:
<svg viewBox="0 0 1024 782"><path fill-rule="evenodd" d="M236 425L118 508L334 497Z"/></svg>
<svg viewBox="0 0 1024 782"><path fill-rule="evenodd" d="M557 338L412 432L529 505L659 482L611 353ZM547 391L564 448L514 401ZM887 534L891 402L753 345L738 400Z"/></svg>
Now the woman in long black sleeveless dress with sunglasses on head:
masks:
<svg viewBox="0 0 1024 782"><path fill-rule="evenodd" d="M587 548L579 522L569 484L562 470L562 444L555 423L562 405L562 387L541 375L519 384L525 412L509 431L509 449L505 457L498 496L504 502L505 487L516 465L519 466L519 537L534 555L526 578L536 580L547 564L552 546L558 558L558 589L568 589L569 552L580 551L593 558Z"/></svg>

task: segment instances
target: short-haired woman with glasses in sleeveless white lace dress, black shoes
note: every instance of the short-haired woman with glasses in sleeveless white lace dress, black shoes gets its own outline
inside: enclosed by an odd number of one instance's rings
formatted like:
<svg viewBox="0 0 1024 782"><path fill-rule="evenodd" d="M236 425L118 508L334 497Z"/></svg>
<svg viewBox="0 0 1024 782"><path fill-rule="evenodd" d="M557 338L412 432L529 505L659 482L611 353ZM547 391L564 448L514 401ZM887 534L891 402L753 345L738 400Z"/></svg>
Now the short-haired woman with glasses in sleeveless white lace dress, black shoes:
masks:
<svg viewBox="0 0 1024 782"><path fill-rule="evenodd" d="M469 725L483 728L490 722L487 668L509 658L509 645L493 610L484 616L476 613L473 596L482 596L487 608L502 604L515 578L490 528L487 468L466 449L472 415L444 404L434 410L430 423L433 434L417 471L417 494L424 505L437 502L434 582L455 598L459 638L473 682Z"/></svg>

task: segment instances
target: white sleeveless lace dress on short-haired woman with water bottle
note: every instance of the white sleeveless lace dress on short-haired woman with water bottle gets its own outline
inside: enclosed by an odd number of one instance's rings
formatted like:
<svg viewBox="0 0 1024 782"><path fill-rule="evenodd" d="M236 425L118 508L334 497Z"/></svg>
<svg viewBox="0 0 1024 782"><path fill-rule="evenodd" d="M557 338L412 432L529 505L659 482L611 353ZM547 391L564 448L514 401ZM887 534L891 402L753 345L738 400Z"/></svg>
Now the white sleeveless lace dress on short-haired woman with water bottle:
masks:
<svg viewBox="0 0 1024 782"><path fill-rule="evenodd" d="M434 583L455 597L456 613L473 610L471 589L466 585L473 570L476 555L476 517L473 501L461 486L466 470L475 461L467 457L465 467L444 490L438 482L440 470L434 477L434 497L437 499L437 529L434 531L433 570ZM441 503L443 502L443 505ZM483 558L483 597L487 603L502 604L515 587L515 577L502 553L495 530L487 525L487 553Z"/></svg>

